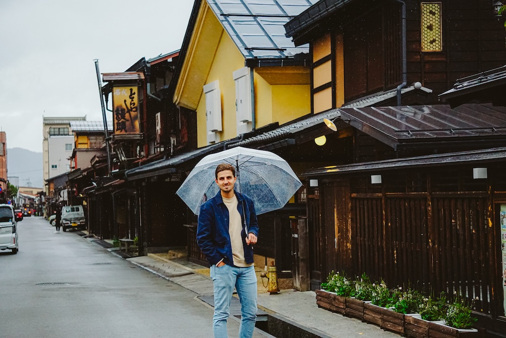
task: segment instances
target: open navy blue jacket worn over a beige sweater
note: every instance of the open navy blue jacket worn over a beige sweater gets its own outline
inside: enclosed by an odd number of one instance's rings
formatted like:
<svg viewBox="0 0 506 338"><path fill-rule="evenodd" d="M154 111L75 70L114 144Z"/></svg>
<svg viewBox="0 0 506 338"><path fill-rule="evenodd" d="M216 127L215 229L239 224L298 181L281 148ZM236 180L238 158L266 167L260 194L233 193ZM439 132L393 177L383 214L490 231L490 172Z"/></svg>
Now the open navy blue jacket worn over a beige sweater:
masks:
<svg viewBox="0 0 506 338"><path fill-rule="evenodd" d="M246 244L247 234L244 225L246 225L248 233L255 234L258 237L257 213L255 212L253 201L249 197L238 192L235 192L235 196L237 196L237 210L242 219L241 237L242 246L244 247L244 258L246 263L252 263L253 248L251 245ZM228 231L229 220L228 209L225 203L223 203L221 192L218 192L215 197L200 207L197 244L211 265L215 265L223 259L225 264L234 266L232 244Z"/></svg>

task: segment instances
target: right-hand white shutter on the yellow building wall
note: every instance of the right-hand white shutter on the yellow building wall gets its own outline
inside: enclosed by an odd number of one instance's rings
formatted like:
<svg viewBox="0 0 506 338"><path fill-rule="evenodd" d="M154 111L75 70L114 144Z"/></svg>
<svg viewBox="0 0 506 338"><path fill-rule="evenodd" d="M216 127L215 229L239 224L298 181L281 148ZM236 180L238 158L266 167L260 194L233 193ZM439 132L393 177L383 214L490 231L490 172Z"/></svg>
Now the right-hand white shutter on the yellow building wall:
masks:
<svg viewBox="0 0 506 338"><path fill-rule="evenodd" d="M235 81L235 105L237 124L251 122L251 77L250 69L242 67L233 72ZM239 134L239 132L238 132Z"/></svg>

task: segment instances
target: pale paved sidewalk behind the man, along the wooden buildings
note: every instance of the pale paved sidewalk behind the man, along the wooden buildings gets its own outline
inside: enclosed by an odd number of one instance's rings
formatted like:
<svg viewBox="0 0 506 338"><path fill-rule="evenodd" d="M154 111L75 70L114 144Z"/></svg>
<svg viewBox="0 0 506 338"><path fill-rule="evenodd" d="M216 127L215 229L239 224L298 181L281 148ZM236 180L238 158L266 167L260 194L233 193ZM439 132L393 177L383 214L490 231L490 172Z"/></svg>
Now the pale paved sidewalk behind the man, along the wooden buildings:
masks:
<svg viewBox="0 0 506 338"><path fill-rule="evenodd" d="M185 258L166 259L163 255L149 254L127 258L127 260L195 292L203 302L213 295L213 282L208 277L208 269L193 264ZM262 315L269 316L269 333L278 337L400 337L378 326L318 308L316 294L313 291L299 292L291 289L282 290L279 294L273 295L259 293L258 307L263 310ZM258 315L260 316L261 313L259 312ZM283 325L278 325L281 322ZM274 332L276 327L284 331Z"/></svg>

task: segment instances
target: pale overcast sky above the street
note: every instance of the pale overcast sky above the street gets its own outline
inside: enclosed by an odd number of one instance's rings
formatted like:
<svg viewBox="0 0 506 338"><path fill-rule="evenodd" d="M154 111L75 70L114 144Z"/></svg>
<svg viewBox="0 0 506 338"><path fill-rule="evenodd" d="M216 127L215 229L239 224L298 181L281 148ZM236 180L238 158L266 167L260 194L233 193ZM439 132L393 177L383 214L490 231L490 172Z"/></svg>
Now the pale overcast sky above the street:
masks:
<svg viewBox="0 0 506 338"><path fill-rule="evenodd" d="M101 121L94 59L102 73L121 72L142 57L180 49L192 6L193 0L0 0L0 129L7 147L42 152L43 116Z"/></svg>

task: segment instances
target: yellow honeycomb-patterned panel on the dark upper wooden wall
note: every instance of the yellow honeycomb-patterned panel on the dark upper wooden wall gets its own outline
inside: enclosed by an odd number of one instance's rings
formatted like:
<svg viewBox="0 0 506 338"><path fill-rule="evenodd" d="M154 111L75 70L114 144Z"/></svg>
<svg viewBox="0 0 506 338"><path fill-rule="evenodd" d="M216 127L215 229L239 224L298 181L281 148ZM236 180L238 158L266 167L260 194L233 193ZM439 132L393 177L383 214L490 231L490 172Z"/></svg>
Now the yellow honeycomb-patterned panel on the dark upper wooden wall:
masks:
<svg viewBox="0 0 506 338"><path fill-rule="evenodd" d="M421 3L421 51L441 52L441 3Z"/></svg>

